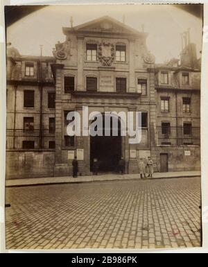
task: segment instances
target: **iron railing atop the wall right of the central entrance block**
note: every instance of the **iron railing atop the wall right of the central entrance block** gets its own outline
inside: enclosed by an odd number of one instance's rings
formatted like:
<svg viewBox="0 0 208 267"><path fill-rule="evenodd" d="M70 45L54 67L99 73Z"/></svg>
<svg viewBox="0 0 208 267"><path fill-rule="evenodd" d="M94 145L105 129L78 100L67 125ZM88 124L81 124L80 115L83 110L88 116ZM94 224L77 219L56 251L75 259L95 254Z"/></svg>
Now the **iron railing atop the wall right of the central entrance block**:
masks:
<svg viewBox="0 0 208 267"><path fill-rule="evenodd" d="M199 127L157 127L157 145L200 146Z"/></svg>

